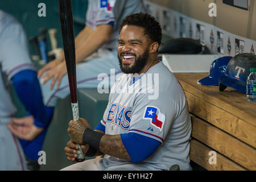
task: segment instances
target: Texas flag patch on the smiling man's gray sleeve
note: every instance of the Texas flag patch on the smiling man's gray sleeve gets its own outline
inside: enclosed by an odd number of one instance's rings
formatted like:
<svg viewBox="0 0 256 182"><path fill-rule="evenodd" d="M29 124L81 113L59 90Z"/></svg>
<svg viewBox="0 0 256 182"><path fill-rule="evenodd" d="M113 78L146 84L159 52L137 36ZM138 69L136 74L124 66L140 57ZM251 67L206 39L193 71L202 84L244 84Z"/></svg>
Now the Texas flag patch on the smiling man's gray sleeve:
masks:
<svg viewBox="0 0 256 182"><path fill-rule="evenodd" d="M166 116L160 112L158 107L146 106L143 119L150 119L151 124L157 127L160 131L163 129L165 118Z"/></svg>

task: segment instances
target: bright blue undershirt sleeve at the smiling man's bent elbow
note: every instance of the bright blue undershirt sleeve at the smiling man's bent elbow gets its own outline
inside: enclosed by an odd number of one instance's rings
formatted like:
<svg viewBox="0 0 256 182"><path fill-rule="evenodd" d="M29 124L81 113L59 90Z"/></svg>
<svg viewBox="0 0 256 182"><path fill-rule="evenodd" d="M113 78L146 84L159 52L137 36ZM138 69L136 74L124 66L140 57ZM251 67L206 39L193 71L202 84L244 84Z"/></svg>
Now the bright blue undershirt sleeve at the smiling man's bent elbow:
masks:
<svg viewBox="0 0 256 182"><path fill-rule="evenodd" d="M121 134L121 139L133 163L149 158L161 144L158 140L137 133Z"/></svg>

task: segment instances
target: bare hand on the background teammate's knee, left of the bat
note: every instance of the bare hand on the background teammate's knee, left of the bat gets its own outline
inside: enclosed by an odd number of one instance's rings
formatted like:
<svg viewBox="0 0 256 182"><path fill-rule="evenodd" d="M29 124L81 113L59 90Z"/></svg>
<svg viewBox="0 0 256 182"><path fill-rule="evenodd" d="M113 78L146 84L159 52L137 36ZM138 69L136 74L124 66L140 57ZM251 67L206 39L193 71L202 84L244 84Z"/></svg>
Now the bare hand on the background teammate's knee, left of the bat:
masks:
<svg viewBox="0 0 256 182"><path fill-rule="evenodd" d="M45 84L47 81L49 81L52 78L50 89L54 87L56 82L57 82L56 86L57 88L59 88L63 76L67 74L65 61L61 63L57 63L57 62L53 62L52 64L50 63L48 63L49 65L47 64L45 66L46 68L42 68L39 70L38 76L41 77L43 72L49 69L49 71L44 76L42 76L42 78L40 78L40 80L42 80L42 84Z"/></svg>

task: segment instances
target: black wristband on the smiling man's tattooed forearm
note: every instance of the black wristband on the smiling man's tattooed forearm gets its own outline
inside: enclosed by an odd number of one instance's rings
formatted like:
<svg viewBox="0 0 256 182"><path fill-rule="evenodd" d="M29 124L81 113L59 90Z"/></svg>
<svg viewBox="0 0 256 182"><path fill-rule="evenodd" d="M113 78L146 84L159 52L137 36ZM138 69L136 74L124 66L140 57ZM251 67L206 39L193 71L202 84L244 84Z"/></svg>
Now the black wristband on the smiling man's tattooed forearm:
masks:
<svg viewBox="0 0 256 182"><path fill-rule="evenodd" d="M91 129L86 129L82 135L82 142L89 144L96 150L100 150L100 142L103 135L103 133L99 133Z"/></svg>

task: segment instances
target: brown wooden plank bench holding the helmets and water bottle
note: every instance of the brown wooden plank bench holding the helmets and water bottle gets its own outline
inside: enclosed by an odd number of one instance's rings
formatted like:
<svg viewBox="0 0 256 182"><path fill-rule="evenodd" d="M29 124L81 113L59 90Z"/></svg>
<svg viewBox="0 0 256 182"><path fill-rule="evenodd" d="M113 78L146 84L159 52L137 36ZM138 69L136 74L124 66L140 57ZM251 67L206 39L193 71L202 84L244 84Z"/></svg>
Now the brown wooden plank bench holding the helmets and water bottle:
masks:
<svg viewBox="0 0 256 182"><path fill-rule="evenodd" d="M190 159L207 170L256 170L256 102L232 88L197 84L208 73L174 74L191 114ZM216 164L209 163L210 151Z"/></svg>

